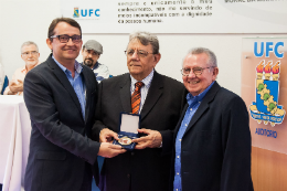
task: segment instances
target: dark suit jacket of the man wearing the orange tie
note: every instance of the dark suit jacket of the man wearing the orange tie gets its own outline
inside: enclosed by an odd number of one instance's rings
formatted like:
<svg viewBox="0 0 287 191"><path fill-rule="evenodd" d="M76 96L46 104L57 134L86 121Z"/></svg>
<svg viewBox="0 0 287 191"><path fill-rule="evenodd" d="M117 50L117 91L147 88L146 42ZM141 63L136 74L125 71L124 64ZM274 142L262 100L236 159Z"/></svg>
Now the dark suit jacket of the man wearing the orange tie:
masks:
<svg viewBox="0 0 287 191"><path fill-rule="evenodd" d="M141 109L140 127L160 131L162 149L134 150L105 159L102 174L106 178L107 191L168 190L173 129L180 117L183 92L184 86L180 82L155 72ZM119 114L131 113L130 97L129 73L99 84L97 121L93 127L95 138L105 127L119 131Z"/></svg>

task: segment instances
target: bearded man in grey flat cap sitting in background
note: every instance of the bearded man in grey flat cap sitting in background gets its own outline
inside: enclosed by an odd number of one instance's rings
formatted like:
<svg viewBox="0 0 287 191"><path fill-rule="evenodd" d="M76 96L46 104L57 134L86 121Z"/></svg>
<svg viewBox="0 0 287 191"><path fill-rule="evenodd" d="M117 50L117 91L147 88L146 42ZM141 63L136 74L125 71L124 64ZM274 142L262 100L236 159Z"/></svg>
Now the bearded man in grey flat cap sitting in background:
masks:
<svg viewBox="0 0 287 191"><path fill-rule="evenodd" d="M103 54L103 46L95 40L88 40L82 49L83 64L91 67L95 73L96 79L100 83L104 78L109 77L108 67L97 62Z"/></svg>

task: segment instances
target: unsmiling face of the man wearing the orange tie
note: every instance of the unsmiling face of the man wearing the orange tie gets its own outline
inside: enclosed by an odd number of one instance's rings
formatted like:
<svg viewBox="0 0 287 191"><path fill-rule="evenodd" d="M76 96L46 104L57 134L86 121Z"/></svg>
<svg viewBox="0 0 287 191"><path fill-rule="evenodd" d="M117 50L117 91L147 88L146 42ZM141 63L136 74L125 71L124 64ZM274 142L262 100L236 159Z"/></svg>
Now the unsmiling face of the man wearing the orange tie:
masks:
<svg viewBox="0 0 287 191"><path fill-rule="evenodd" d="M138 51L152 53L152 45L142 45L137 39L129 42L127 51L134 50L132 55L127 55L127 66L130 75L137 81L142 81L156 67L160 60L160 54L148 54L146 57L139 57Z"/></svg>

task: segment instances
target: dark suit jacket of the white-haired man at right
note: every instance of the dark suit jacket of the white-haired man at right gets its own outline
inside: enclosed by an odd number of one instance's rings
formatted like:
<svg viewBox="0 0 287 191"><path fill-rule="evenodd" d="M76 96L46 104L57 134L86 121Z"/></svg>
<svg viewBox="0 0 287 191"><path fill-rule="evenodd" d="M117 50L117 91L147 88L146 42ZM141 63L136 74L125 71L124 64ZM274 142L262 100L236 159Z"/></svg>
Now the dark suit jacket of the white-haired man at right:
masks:
<svg viewBox="0 0 287 191"><path fill-rule="evenodd" d="M188 93L188 92L187 92ZM174 141L188 104L174 130ZM172 165L174 167L174 148ZM174 169L171 173L171 185ZM216 82L181 140L182 190L252 191L251 132L246 106Z"/></svg>

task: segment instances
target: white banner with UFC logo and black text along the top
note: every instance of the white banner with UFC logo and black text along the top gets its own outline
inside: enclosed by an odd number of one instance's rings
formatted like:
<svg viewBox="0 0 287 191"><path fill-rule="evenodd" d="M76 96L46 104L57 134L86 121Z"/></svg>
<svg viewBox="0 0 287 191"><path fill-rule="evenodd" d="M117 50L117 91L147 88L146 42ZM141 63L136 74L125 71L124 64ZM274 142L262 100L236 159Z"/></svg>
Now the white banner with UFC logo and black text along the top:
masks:
<svg viewBox="0 0 287 191"><path fill-rule="evenodd" d="M286 33L286 0L61 0L83 33Z"/></svg>

